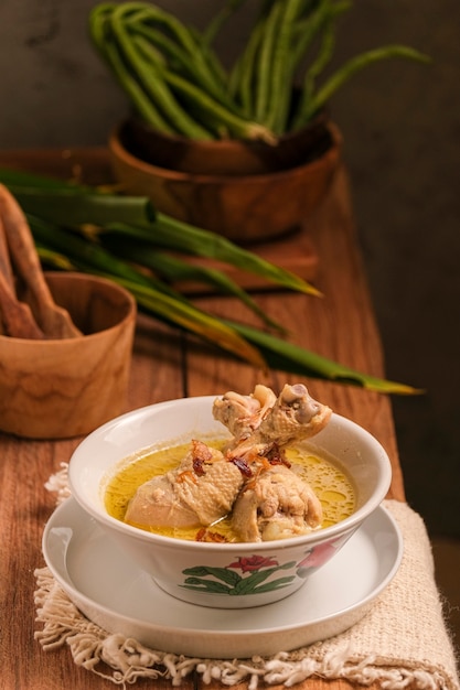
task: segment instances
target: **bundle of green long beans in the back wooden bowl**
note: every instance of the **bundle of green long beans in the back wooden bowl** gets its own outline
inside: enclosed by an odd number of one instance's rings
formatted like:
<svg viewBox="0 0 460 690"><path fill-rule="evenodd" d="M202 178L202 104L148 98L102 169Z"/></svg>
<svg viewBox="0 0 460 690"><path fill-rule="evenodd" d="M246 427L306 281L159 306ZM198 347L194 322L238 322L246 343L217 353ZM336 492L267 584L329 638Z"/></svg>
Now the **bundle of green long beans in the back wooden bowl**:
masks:
<svg viewBox="0 0 460 690"><path fill-rule="evenodd" d="M277 138L310 122L353 75L382 60L427 62L406 45L351 57L323 77L349 0L260 0L242 54L224 68L213 47L244 0L227 0L200 32L149 2L103 2L90 36L137 114L192 139ZM321 80L322 78L322 80Z"/></svg>

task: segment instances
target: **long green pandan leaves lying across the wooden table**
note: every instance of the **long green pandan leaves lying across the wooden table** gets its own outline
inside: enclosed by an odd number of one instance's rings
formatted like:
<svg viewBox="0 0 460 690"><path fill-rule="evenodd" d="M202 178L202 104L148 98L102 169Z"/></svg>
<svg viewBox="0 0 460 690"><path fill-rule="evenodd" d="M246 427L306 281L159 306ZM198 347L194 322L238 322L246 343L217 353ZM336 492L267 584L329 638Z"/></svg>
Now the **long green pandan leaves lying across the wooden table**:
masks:
<svg viewBox="0 0 460 690"><path fill-rule="evenodd" d="M378 392L419 392L288 343L281 335L282 326L224 272L186 261L186 255L218 259L282 288L318 294L301 278L222 236L157 213L145 197L121 196L1 169L0 183L25 213L45 267L109 278L131 291L141 311L212 342L254 366ZM220 319L197 309L171 287L171 281L190 278L240 299L260 317L263 327Z"/></svg>

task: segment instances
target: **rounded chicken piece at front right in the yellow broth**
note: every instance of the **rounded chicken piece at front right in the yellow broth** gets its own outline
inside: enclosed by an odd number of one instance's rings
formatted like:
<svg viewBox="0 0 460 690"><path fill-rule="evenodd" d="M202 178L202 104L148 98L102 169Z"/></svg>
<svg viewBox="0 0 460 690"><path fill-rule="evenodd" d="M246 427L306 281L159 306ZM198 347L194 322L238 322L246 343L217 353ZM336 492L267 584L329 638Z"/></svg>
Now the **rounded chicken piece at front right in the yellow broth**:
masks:
<svg viewBox="0 0 460 690"><path fill-rule="evenodd" d="M307 482L286 465L274 465L249 482L233 508L232 525L242 541L269 541L319 527L322 507Z"/></svg>

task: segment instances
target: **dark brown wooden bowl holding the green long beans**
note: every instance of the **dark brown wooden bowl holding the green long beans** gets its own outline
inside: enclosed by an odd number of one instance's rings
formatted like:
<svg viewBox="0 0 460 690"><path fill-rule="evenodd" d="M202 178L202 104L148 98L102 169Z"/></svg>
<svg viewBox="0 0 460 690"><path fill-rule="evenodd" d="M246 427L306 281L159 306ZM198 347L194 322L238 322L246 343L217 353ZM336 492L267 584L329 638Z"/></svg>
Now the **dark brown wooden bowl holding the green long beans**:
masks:
<svg viewBox="0 0 460 690"><path fill-rule="evenodd" d="M191 173L152 164L132 152L126 122L111 133L109 151L126 193L148 196L164 214L245 244L286 235L308 223L340 160L340 133L333 125L328 131L330 145L319 158L256 174ZM217 150L220 143L214 143ZM205 143L204 158L211 145Z"/></svg>

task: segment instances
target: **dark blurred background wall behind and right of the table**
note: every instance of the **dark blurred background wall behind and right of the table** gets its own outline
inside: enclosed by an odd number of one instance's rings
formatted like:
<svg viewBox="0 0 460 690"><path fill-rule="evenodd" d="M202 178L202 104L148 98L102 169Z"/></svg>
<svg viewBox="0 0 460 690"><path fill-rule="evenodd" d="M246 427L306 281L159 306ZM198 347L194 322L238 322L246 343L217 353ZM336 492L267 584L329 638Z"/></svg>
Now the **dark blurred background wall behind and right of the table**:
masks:
<svg viewBox="0 0 460 690"><path fill-rule="evenodd" d="M0 148L103 144L127 103L87 37L90 0L0 0ZM202 21L217 0L163 0ZM226 55L240 44L235 22ZM459 0L356 0L335 63L404 42L429 67L375 65L332 103L387 375L427 389L394 399L408 499L431 533L460 536Z"/></svg>

